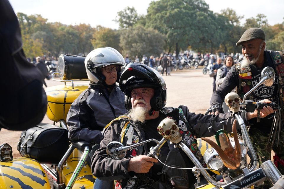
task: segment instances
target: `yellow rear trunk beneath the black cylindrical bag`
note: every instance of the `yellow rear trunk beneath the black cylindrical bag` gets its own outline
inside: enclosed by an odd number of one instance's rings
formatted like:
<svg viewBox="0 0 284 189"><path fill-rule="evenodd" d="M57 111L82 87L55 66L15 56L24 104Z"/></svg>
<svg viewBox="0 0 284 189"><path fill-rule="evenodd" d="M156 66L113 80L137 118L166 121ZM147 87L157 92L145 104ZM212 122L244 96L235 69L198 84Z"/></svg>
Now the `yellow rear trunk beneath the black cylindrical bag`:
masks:
<svg viewBox="0 0 284 189"><path fill-rule="evenodd" d="M52 121L65 120L72 102L85 90L89 84L57 85L45 89L47 96L47 117Z"/></svg>

